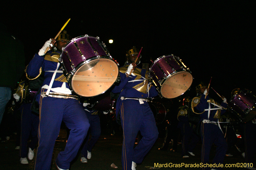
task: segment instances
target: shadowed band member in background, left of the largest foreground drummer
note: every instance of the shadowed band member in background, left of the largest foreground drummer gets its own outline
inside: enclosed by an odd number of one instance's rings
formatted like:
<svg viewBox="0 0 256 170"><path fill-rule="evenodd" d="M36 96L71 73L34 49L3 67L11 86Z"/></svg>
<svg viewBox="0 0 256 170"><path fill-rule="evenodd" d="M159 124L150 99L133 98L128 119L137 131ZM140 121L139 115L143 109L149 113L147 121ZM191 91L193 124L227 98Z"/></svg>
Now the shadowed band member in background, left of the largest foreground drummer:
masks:
<svg viewBox="0 0 256 170"><path fill-rule="evenodd" d="M42 75L41 75L42 76ZM40 76L40 78L42 78ZM38 78L39 79L39 78ZM35 97L38 88L31 89L30 87L35 87L30 85L38 83L37 80L25 80L21 81L18 85L16 93L13 94L14 99L21 103L19 111L21 113L21 133L20 133L20 163L28 164L28 159L34 159L34 149L38 143L38 126L39 126L39 114L31 111L32 101ZM37 86L40 86L37 85ZM15 102L16 103L16 102ZM30 142L29 141L30 138ZM27 159L28 157L28 159Z"/></svg>

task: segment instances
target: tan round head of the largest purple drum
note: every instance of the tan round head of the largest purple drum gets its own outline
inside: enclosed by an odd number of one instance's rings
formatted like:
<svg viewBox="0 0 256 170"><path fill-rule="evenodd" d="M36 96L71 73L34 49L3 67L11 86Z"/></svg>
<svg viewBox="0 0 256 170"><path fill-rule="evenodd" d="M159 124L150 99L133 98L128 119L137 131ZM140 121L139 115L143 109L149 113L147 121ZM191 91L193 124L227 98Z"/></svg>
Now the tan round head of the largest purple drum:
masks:
<svg viewBox="0 0 256 170"><path fill-rule="evenodd" d="M115 83L118 72L118 66L112 59L92 60L76 70L71 80L71 88L80 96L97 96Z"/></svg>

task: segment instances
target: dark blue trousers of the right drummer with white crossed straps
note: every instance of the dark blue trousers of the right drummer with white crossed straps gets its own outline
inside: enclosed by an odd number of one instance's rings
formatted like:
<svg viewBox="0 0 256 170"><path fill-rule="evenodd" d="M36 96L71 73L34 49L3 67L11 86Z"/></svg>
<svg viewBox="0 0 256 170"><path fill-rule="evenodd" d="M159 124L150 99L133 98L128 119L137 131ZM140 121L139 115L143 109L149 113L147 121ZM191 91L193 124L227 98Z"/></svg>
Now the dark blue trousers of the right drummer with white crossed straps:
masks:
<svg viewBox="0 0 256 170"><path fill-rule="evenodd" d="M212 163L216 163L216 165L218 165L219 163L222 164L226 151L228 149L228 144L219 126L212 123L201 122L200 133L202 139L201 162L203 164L209 164L210 150L212 148L212 144L215 144L217 148ZM201 169L208 170L211 168L203 167ZM221 168L214 167L214 169L220 170Z"/></svg>

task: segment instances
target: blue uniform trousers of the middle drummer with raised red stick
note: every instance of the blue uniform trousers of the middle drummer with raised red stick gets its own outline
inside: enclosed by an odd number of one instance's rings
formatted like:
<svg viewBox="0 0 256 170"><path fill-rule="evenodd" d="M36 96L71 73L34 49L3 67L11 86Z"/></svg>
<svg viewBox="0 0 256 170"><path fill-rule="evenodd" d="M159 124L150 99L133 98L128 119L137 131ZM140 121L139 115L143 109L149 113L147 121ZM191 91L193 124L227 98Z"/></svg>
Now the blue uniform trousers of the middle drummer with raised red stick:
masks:
<svg viewBox="0 0 256 170"><path fill-rule="evenodd" d="M153 112L146 101L140 104L138 100L123 100L119 114L123 128L122 169L130 170L132 161L140 164L154 145L158 130ZM134 148L139 131L142 138Z"/></svg>

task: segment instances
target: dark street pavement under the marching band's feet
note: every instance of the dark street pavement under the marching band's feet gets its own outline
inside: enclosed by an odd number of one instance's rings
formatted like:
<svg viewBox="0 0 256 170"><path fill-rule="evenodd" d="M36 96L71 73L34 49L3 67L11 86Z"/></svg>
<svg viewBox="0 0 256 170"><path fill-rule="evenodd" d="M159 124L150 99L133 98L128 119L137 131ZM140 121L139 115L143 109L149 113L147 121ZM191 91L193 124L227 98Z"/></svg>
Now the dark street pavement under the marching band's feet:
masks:
<svg viewBox="0 0 256 170"><path fill-rule="evenodd" d="M162 135L161 135L162 134ZM171 152L172 144L169 144L169 149L167 151L159 151L163 144L164 133L160 133L160 137L157 139L155 145L152 147L150 152L147 154L145 159L140 165L137 165L136 170L147 170L147 169L160 169L160 170L187 170L187 169L200 169L199 167L188 168L185 164L200 164L200 151L201 143L196 145L195 151L193 152L196 156L190 156L189 158L181 157L181 144L178 145L177 152ZM15 139L16 135L12 135L10 140L2 140L0 142L0 169L1 170L33 170L35 159L29 161L28 165L20 164L19 150L15 150ZM88 163L81 163L81 154L78 152L76 159L71 163L70 170L105 170L114 169L111 164L114 163L119 169L122 169L121 164L121 153L122 153L122 132L119 131L115 135L110 135L110 130L106 127L102 128L102 133L100 139L92 149L92 158L88 160ZM56 170L55 159L60 151L65 148L66 145L66 129L61 128L59 137L56 140L51 170ZM210 155L210 161L212 161L215 154L215 146L212 146L212 151ZM36 150L36 149L35 149ZM225 157L224 164L236 164L244 163L244 159L241 156L241 152L238 152L236 148L231 151L233 157ZM183 167L155 167L162 164L163 166L168 164L182 164ZM171 163L171 164L170 164ZM254 162L255 163L255 162ZM224 167L223 170L242 170L243 167Z"/></svg>

